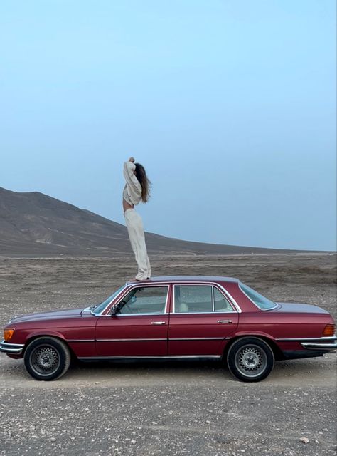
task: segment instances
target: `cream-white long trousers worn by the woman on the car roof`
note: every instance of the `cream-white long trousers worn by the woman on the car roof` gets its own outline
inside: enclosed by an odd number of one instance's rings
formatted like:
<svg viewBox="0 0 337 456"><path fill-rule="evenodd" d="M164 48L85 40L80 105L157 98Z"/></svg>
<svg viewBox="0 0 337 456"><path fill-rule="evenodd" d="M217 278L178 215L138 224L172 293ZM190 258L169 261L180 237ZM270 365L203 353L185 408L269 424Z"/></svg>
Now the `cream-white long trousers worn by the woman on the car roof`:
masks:
<svg viewBox="0 0 337 456"><path fill-rule="evenodd" d="M127 232L131 242L132 250L138 264L137 280L149 279L151 277L151 266L147 256L144 226L141 216L134 209L127 209L124 212Z"/></svg>

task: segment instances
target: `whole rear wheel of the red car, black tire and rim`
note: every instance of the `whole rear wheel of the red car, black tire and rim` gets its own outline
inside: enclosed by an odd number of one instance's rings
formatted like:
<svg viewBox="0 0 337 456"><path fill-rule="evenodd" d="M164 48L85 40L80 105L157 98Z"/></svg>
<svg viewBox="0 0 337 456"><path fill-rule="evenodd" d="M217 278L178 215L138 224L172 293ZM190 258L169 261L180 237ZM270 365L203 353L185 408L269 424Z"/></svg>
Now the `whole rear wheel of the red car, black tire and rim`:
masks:
<svg viewBox="0 0 337 456"><path fill-rule="evenodd" d="M232 375L244 382L260 382L274 367L274 353L267 342L257 337L235 341L227 353L228 368Z"/></svg>

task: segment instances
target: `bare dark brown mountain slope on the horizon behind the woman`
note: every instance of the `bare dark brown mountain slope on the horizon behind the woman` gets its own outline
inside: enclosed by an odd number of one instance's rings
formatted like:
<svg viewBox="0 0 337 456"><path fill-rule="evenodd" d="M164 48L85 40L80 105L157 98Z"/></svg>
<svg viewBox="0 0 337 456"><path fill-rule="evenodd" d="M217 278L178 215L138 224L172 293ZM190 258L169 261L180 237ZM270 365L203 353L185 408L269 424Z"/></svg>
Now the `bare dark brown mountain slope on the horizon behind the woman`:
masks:
<svg viewBox="0 0 337 456"><path fill-rule="evenodd" d="M146 233L150 253L240 254L273 249L203 244ZM40 192L0 187L0 256L130 254L124 225Z"/></svg>

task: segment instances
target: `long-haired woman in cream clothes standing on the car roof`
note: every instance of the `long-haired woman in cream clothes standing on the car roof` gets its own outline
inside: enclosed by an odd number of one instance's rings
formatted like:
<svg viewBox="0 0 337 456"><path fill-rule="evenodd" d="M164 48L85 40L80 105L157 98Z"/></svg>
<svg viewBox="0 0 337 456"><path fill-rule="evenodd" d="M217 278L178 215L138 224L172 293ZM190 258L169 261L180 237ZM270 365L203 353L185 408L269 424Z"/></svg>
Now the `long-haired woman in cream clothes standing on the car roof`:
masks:
<svg viewBox="0 0 337 456"><path fill-rule="evenodd" d="M146 251L143 221L134 210L134 206L137 206L140 201L148 201L150 181L146 177L144 167L135 163L134 157L130 157L129 161L124 163L124 177L126 180L123 190L124 217L138 264L138 274L132 280L146 280L151 277L151 266Z"/></svg>

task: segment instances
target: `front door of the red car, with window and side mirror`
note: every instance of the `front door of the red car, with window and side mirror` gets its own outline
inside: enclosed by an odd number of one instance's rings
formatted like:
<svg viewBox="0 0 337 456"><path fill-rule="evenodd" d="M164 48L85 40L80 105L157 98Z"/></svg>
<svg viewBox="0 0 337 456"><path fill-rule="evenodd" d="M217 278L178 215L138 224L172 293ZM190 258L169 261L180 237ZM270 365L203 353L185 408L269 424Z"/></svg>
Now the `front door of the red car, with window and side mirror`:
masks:
<svg viewBox="0 0 337 456"><path fill-rule="evenodd" d="M136 285L119 301L116 315L96 326L97 355L149 357L167 355L169 286Z"/></svg>

